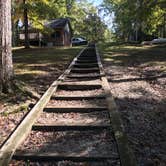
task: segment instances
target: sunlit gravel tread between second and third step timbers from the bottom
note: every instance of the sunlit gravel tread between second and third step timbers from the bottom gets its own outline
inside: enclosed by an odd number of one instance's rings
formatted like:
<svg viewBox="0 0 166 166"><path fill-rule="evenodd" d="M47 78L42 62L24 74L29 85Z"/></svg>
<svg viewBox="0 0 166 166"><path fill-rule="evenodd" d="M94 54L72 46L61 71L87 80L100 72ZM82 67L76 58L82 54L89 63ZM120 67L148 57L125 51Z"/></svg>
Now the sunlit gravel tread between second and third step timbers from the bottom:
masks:
<svg viewBox="0 0 166 166"><path fill-rule="evenodd" d="M54 125L109 125L108 112L92 113L42 113L39 124Z"/></svg>

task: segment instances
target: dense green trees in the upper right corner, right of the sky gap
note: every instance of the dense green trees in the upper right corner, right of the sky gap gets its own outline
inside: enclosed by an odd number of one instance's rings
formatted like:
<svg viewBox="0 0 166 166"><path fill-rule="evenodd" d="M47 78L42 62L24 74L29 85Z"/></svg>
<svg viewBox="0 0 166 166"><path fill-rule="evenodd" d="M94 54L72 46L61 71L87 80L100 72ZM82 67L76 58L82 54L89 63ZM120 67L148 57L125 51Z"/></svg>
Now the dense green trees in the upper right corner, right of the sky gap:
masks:
<svg viewBox="0 0 166 166"><path fill-rule="evenodd" d="M156 36L159 29L165 34L164 0L104 0L104 6L115 15L114 29L119 39L132 36L136 41L146 40L147 36Z"/></svg>

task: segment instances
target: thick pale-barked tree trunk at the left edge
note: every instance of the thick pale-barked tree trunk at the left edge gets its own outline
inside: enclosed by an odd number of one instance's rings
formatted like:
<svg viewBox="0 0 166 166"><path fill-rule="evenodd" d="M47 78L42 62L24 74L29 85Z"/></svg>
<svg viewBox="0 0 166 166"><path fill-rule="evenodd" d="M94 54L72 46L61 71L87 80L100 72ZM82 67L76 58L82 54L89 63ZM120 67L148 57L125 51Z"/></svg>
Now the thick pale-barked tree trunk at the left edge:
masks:
<svg viewBox="0 0 166 166"><path fill-rule="evenodd" d="M0 0L0 46L2 92L9 93L12 91L14 76L12 62L11 0Z"/></svg>

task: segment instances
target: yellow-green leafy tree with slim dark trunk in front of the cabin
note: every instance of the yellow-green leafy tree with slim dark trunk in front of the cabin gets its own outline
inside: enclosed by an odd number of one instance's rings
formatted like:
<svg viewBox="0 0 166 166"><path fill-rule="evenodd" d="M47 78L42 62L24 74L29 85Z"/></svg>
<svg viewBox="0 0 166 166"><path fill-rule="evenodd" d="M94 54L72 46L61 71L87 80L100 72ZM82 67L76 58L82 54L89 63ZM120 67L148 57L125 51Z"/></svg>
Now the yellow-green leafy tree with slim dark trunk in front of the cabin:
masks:
<svg viewBox="0 0 166 166"><path fill-rule="evenodd" d="M24 25L25 48L29 48L28 28L33 26L41 31L48 20L67 16L65 0L13 0L13 22L21 20Z"/></svg>

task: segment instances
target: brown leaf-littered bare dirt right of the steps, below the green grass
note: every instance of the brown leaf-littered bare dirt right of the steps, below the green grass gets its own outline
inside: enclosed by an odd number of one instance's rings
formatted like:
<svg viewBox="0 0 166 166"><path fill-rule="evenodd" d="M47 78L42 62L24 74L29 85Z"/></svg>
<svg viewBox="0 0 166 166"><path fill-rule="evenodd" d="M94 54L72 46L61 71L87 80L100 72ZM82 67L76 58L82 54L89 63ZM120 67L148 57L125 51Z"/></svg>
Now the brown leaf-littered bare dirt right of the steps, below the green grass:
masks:
<svg viewBox="0 0 166 166"><path fill-rule="evenodd" d="M147 75L142 71L147 70L144 67L116 66L108 62L104 67L138 164L165 166L166 79L143 79Z"/></svg>

